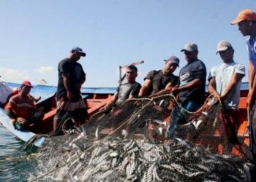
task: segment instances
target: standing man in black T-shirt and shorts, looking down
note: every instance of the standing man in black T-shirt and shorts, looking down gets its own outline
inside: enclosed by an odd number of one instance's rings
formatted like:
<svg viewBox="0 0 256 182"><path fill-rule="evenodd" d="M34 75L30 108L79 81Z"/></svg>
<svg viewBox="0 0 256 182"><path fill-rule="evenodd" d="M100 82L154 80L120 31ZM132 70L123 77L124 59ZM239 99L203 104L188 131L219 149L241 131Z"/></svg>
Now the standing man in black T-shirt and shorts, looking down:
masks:
<svg viewBox="0 0 256 182"><path fill-rule="evenodd" d="M53 135L59 134L61 121L66 114L75 120L75 124L82 124L86 116L86 104L84 103L80 89L86 82L86 74L78 60L85 57L86 53L80 47L74 47L70 51L69 58L61 60L58 66L59 81L56 92L57 111L53 119ZM62 120L61 120L62 119Z"/></svg>

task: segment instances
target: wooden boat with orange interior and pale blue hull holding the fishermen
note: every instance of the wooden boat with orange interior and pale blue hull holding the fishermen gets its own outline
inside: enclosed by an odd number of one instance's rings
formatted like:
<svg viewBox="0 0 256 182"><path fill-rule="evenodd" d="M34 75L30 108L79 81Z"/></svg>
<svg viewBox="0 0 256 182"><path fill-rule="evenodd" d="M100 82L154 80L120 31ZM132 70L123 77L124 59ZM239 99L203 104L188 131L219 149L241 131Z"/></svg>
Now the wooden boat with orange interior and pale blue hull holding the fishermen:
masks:
<svg viewBox="0 0 256 182"><path fill-rule="evenodd" d="M89 116L92 116L99 111L99 108L105 106L106 103L113 97L114 88L112 90L106 90L105 88L87 88L87 91L83 92L83 100L86 103L87 111ZM82 90L83 91L83 90ZM248 146L249 144L249 136L247 133L247 111L246 111L246 95L248 94L248 90L241 90L241 98L239 104L239 124L238 124L238 138L241 138L244 143ZM10 130L14 135L20 138L23 141L29 141L34 135L37 134L48 134L53 130L53 116L56 114L56 100L54 96L43 100L41 103L37 104L37 107L43 107L45 110L45 116L41 122L39 122L39 129L33 131L18 131L12 126L10 118L7 116L3 109L0 109L0 122ZM219 132L216 130L211 133L215 138L219 137ZM36 143L35 146L42 146L44 138L41 138ZM223 146L221 143L218 145L218 150L221 153L223 150ZM233 154L239 154L235 148L232 151Z"/></svg>

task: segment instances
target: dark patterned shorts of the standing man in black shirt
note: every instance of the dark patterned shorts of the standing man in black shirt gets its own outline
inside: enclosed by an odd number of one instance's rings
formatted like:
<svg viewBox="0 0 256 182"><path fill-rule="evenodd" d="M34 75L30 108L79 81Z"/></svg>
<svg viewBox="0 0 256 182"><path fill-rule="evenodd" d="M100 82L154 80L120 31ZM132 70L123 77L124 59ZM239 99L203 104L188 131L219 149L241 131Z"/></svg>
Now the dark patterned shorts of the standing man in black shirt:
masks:
<svg viewBox="0 0 256 182"><path fill-rule="evenodd" d="M54 119L60 121L65 114L69 114L75 121L83 121L89 116L83 100L78 100L77 102L57 101L57 111Z"/></svg>

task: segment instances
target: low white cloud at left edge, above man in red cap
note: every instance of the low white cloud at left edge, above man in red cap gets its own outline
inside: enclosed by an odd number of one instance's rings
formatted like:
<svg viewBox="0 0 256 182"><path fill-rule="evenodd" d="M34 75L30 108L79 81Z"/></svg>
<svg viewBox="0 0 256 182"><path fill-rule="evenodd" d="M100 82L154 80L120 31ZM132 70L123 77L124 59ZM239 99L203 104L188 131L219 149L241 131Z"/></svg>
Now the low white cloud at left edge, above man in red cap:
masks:
<svg viewBox="0 0 256 182"><path fill-rule="evenodd" d="M22 81L29 79L29 73L27 71L15 70L12 68L0 67L1 79L5 82L13 82L14 80Z"/></svg>

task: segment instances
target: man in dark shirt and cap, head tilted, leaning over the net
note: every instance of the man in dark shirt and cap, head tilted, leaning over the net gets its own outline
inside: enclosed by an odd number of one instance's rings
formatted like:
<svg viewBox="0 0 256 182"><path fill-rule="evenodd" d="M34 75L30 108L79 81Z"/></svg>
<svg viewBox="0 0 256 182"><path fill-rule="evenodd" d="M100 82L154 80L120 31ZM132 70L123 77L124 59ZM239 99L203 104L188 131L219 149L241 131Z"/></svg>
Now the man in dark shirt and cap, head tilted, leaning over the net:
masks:
<svg viewBox="0 0 256 182"><path fill-rule="evenodd" d="M175 76L173 72L178 65L179 59L176 56L171 56L165 60L165 68L158 71L149 71L144 79L139 96L149 96L169 87L175 87L178 83L178 76Z"/></svg>

